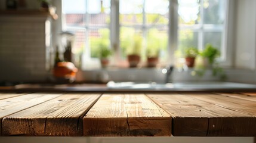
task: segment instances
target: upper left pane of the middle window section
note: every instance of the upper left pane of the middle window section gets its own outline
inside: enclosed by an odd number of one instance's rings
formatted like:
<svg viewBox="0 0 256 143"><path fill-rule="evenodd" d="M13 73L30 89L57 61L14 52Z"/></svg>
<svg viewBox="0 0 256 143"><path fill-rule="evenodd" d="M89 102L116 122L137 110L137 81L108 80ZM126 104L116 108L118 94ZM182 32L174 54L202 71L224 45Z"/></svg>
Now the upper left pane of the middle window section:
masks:
<svg viewBox="0 0 256 143"><path fill-rule="evenodd" d="M120 0L119 4L121 24L143 23L143 0Z"/></svg>

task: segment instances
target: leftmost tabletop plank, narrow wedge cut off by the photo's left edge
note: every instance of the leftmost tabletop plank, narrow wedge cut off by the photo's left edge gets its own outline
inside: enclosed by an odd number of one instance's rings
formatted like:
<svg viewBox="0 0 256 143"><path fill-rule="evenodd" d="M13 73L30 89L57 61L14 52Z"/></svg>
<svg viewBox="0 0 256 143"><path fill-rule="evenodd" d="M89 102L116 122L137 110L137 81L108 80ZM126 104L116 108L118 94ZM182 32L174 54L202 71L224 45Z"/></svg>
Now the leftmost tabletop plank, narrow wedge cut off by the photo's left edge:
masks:
<svg viewBox="0 0 256 143"><path fill-rule="evenodd" d="M0 121L5 116L17 113L18 111L24 110L29 107L41 104L42 102L51 100L58 97L60 94L27 94L24 96L18 96L14 98L7 98L5 100L0 100ZM2 123L0 124L0 136L2 135Z"/></svg>

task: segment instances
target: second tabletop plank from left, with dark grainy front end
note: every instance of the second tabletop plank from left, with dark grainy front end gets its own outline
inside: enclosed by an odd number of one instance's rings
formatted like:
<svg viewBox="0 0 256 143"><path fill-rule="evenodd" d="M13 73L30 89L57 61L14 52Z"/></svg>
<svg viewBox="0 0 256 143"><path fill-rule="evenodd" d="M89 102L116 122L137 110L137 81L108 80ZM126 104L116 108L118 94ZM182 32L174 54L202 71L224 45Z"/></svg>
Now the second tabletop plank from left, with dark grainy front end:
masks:
<svg viewBox="0 0 256 143"><path fill-rule="evenodd" d="M5 136L82 136L82 117L100 94L64 94L2 121Z"/></svg>

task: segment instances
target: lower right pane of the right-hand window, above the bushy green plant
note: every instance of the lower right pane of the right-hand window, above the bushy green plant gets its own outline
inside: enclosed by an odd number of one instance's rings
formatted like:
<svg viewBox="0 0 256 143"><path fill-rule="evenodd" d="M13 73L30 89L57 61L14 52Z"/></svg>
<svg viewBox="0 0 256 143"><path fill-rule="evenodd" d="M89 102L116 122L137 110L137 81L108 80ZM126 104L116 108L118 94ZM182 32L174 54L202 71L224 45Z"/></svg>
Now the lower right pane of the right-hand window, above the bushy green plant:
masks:
<svg viewBox="0 0 256 143"><path fill-rule="evenodd" d="M203 48L207 43L210 43L212 46L215 46L219 50L221 50L221 39L222 33L221 32L205 32L204 33L204 41L203 41Z"/></svg>

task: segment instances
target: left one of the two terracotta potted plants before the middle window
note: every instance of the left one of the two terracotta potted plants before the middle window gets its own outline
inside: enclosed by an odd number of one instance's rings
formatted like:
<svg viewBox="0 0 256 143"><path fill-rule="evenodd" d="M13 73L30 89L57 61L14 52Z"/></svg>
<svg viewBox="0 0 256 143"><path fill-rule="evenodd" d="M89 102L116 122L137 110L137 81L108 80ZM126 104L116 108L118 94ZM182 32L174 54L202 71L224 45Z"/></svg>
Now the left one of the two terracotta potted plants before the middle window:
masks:
<svg viewBox="0 0 256 143"><path fill-rule="evenodd" d="M142 47L142 37L139 35L134 36L133 44L128 48L129 52L127 54L129 67L137 67L140 63L140 54Z"/></svg>

